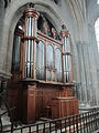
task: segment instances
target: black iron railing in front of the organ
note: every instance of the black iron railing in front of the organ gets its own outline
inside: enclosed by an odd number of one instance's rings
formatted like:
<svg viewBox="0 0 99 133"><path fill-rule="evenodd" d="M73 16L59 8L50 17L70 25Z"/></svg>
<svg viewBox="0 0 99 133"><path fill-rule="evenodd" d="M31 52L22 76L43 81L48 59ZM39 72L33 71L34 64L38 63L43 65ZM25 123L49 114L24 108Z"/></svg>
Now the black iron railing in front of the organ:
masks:
<svg viewBox="0 0 99 133"><path fill-rule="evenodd" d="M86 113L38 122L22 126L14 126L12 122L10 130L1 133L92 133L99 129L99 110Z"/></svg>

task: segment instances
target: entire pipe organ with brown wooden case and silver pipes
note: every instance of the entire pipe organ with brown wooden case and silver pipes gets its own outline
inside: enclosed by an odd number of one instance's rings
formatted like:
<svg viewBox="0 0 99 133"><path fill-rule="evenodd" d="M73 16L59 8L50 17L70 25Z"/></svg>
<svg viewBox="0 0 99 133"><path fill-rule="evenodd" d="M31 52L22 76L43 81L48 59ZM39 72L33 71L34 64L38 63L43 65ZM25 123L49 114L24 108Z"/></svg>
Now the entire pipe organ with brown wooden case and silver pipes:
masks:
<svg viewBox="0 0 99 133"><path fill-rule="evenodd" d="M41 116L55 119L78 113L78 100L73 96L69 32L62 25L58 35L45 20L38 30L38 16L30 3L24 11L20 71L12 72L8 84L9 105L15 106L13 117L23 123L33 123Z"/></svg>

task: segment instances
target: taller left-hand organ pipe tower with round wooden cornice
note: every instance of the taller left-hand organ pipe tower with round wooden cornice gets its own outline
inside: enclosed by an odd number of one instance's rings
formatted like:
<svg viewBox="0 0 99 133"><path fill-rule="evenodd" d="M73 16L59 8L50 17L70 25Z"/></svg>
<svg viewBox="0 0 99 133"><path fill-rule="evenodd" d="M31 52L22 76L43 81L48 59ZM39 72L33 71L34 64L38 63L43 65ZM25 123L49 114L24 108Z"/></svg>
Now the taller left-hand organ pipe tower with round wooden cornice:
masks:
<svg viewBox="0 0 99 133"><path fill-rule="evenodd" d="M36 32L37 32L37 18L38 12L30 7L24 11L25 24L24 24L24 62L23 62L23 76L24 78L35 78L35 50L34 45L36 43Z"/></svg>

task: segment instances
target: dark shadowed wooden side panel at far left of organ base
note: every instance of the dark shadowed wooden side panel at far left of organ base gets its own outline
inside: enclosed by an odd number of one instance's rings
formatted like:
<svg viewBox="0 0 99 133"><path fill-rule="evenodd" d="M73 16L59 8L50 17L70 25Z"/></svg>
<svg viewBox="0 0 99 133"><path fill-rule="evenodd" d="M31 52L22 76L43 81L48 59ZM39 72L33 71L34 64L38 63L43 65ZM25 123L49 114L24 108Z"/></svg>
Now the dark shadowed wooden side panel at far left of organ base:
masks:
<svg viewBox="0 0 99 133"><path fill-rule="evenodd" d="M18 76L16 76L18 78ZM7 89L7 103L9 108L15 106L15 110L11 111L12 119L19 120L20 119L20 101L21 101L21 84L19 80L11 79L8 83Z"/></svg>

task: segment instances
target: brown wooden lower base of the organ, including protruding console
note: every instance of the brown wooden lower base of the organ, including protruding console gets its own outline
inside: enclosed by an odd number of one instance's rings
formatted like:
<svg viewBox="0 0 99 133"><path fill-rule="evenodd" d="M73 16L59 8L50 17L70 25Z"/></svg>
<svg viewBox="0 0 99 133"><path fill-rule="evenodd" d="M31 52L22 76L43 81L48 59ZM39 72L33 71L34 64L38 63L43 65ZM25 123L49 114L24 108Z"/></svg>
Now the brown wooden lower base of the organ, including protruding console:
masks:
<svg viewBox="0 0 99 133"><path fill-rule="evenodd" d="M19 81L20 82L20 81ZM78 100L73 96L73 85L64 83L47 83L34 80L12 82L8 88L9 103L16 106L13 117L23 123L34 123L43 117L63 117L78 113ZM14 96L15 95L15 96Z"/></svg>

